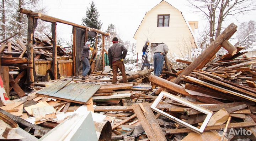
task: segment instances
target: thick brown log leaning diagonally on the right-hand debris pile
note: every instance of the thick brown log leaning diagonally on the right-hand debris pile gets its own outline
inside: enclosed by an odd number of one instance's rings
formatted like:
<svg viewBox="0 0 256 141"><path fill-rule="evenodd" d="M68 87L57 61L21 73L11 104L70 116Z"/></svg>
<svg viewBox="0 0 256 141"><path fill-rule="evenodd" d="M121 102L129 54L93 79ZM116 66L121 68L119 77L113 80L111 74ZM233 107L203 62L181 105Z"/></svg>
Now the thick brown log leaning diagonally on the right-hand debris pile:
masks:
<svg viewBox="0 0 256 141"><path fill-rule="evenodd" d="M219 51L222 47L222 42L228 40L236 31L237 26L231 23L217 39L215 39L209 47L207 47L183 72L178 75L174 83L180 84L182 75L189 75L193 70L202 69L209 60Z"/></svg>

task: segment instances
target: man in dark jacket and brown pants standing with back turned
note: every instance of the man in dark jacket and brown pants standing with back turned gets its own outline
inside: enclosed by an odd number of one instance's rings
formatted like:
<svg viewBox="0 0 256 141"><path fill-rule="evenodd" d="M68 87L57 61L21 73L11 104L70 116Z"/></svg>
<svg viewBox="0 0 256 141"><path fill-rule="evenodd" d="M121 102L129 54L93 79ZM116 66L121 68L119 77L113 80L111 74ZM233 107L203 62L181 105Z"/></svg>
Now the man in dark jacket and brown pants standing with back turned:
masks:
<svg viewBox="0 0 256 141"><path fill-rule="evenodd" d="M108 60L110 62L111 69L113 69L113 84L117 83L118 68L122 72L123 83L127 83L128 80L123 64L123 61L127 54L127 49L124 47L124 45L118 43L117 37L114 37L112 42L113 45L108 49Z"/></svg>

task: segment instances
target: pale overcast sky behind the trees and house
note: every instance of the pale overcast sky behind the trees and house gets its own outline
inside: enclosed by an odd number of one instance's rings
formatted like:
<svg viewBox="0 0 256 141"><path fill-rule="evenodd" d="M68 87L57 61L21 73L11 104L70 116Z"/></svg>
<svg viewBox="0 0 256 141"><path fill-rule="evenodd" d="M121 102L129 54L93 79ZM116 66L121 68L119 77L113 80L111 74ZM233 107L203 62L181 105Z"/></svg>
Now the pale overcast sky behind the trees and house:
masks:
<svg viewBox="0 0 256 141"><path fill-rule="evenodd" d="M56 18L68 20L81 24L81 19L86 15L86 7L92 0L43 0L43 5L47 8L47 14ZM204 24L202 15L193 13L186 0L166 0L172 6L180 10L186 20L198 20L199 28ZM161 0L94 0L99 19L102 24L102 31L105 31L110 23L114 24L121 35L121 39L136 42L133 35L137 30L146 12ZM225 21L227 25L234 22L239 25L248 20L256 20L256 11L250 12L239 18L239 21L231 19ZM58 23L57 36L70 39L72 27Z"/></svg>

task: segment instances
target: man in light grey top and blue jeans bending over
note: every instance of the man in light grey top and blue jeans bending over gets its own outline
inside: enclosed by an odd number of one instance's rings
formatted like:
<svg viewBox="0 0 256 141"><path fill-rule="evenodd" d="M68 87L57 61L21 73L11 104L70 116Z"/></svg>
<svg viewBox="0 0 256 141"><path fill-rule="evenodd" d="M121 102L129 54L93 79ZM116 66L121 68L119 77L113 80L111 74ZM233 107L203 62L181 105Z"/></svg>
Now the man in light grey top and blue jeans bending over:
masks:
<svg viewBox="0 0 256 141"><path fill-rule="evenodd" d="M154 51L154 74L160 76L162 73L162 66L164 65L164 58L169 51L168 46L164 43L156 46Z"/></svg>

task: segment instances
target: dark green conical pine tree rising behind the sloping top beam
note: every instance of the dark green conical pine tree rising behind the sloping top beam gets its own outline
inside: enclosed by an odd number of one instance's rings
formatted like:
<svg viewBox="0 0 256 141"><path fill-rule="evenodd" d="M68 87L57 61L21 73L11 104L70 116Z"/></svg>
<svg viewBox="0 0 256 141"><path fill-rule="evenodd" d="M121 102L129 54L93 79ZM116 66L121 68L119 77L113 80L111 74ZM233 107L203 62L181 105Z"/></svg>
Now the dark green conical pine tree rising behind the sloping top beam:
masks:
<svg viewBox="0 0 256 141"><path fill-rule="evenodd" d="M92 1L90 7L87 7L86 16L82 17L82 25L100 30L102 23L98 19L99 16L100 14L98 14L94 1Z"/></svg>

